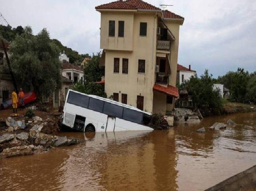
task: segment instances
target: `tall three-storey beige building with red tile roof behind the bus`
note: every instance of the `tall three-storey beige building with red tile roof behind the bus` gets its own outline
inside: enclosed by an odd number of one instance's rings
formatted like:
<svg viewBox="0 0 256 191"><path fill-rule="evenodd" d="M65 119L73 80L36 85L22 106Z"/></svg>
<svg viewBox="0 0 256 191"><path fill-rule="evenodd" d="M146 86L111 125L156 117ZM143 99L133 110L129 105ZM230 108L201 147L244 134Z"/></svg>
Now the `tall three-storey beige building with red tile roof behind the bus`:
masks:
<svg viewBox="0 0 256 191"><path fill-rule="evenodd" d="M96 7L107 97L150 113L172 111L184 18L142 0Z"/></svg>

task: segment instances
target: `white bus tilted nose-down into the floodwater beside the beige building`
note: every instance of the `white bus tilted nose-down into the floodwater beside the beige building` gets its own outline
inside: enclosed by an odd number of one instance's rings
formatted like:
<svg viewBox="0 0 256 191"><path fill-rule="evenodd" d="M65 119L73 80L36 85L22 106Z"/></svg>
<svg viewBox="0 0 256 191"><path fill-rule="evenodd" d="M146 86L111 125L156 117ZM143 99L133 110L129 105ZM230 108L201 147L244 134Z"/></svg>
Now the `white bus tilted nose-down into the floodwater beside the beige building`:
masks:
<svg viewBox="0 0 256 191"><path fill-rule="evenodd" d="M151 114L117 101L69 90L63 125L83 132L150 130Z"/></svg>

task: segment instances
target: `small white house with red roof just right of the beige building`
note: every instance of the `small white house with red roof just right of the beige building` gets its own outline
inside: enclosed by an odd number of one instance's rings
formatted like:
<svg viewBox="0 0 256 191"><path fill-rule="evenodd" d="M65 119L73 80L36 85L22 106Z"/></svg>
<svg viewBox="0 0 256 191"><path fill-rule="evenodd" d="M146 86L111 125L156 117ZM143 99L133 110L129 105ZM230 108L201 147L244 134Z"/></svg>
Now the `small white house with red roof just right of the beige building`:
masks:
<svg viewBox="0 0 256 191"><path fill-rule="evenodd" d="M181 64L177 65L177 83L182 84L186 80L190 80L190 78L193 78L195 76L196 71L191 70L191 65L189 65L189 68L186 68Z"/></svg>

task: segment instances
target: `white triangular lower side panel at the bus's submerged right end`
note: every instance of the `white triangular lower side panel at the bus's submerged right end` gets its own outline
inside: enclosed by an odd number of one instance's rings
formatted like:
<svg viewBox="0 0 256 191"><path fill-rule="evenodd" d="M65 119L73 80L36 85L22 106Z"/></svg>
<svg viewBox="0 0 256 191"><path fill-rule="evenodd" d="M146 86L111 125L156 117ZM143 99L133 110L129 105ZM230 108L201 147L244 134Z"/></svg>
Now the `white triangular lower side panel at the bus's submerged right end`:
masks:
<svg viewBox="0 0 256 191"><path fill-rule="evenodd" d="M126 129L126 131L153 131L152 128L147 127L145 125L140 125L137 123L133 123L130 121L126 121L124 119L115 119L115 131L120 131L120 129ZM121 130L123 131L123 130Z"/></svg>

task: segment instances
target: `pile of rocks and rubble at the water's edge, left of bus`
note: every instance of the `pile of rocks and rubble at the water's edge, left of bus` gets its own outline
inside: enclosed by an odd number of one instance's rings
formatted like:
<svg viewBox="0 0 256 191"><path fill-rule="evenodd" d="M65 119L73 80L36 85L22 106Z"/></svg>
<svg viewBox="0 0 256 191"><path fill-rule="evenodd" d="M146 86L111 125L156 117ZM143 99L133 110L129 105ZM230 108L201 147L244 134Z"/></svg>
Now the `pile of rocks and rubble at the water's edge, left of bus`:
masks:
<svg viewBox="0 0 256 191"><path fill-rule="evenodd" d="M78 144L81 140L56 136L59 127L58 119L32 117L15 121L12 117L6 119L5 134L0 136L0 158L24 156L38 152L46 152L52 147ZM50 134L48 134L50 133Z"/></svg>

